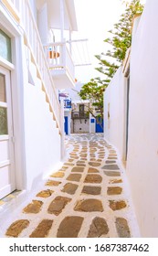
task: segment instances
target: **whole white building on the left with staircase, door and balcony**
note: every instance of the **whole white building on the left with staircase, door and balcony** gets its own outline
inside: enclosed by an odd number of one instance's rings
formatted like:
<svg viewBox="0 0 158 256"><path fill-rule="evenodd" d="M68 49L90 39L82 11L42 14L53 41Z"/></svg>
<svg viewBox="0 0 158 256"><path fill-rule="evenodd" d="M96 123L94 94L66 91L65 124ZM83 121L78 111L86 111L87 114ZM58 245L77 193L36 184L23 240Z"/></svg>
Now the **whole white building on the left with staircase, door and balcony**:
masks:
<svg viewBox="0 0 158 256"><path fill-rule="evenodd" d="M0 198L37 186L62 157L58 89L74 86L65 38L76 29L73 0L0 2Z"/></svg>

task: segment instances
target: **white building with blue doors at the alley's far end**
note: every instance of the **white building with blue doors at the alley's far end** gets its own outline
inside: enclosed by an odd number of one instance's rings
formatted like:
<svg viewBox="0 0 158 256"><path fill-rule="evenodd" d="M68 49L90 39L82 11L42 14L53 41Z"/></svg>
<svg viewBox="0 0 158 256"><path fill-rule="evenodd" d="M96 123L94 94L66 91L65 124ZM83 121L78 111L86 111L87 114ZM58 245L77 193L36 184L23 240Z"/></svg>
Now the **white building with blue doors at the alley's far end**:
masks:
<svg viewBox="0 0 158 256"><path fill-rule="evenodd" d="M65 116L65 132L66 134L70 133L102 133L103 129L100 126L100 123L103 124L103 121L100 117L98 122L97 118L95 118L89 111L91 103L89 100L81 100L78 92L81 90L83 84L81 82L77 82L75 89L67 89L65 90L66 95L68 95L68 100L71 101L71 107L64 109ZM63 93L64 94L64 93ZM67 105L67 104L66 104ZM97 116L100 112L94 107L93 113ZM103 126L103 125L102 125Z"/></svg>

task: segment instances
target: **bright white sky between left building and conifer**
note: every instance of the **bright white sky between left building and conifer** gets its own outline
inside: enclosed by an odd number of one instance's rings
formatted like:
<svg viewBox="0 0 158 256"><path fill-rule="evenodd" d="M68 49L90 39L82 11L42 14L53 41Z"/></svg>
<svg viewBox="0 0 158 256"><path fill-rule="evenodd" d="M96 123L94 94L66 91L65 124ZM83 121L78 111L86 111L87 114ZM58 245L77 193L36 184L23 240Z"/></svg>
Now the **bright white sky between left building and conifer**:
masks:
<svg viewBox="0 0 158 256"><path fill-rule="evenodd" d="M123 13L125 6L122 0L74 0L78 30L74 37L88 38L88 50L90 66L76 68L76 79L86 83L92 78L103 75L95 68L99 67L98 59L94 55L100 55L109 48L103 40L109 37L108 31L113 28ZM142 0L145 2L145 0Z"/></svg>

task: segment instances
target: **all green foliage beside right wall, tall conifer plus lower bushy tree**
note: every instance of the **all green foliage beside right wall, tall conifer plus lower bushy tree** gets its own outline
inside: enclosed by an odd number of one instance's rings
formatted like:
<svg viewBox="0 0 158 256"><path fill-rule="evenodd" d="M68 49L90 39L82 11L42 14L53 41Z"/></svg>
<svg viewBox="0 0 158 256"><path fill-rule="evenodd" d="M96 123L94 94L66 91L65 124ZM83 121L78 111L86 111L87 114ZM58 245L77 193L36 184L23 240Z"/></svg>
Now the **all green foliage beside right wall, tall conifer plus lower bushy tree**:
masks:
<svg viewBox="0 0 158 256"><path fill-rule="evenodd" d="M105 75L105 80L91 79L90 82L83 85L79 92L82 100L90 101L89 112L93 116L100 115L103 117L103 91L109 85L116 70L121 66L127 49L131 47L133 17L142 14L143 5L140 0L132 0L131 3L125 1L125 4L126 9L120 20L109 31L111 37L104 40L105 43L111 45L111 49L95 56L100 60L100 67L96 69ZM95 112L94 107L97 107L99 113Z"/></svg>

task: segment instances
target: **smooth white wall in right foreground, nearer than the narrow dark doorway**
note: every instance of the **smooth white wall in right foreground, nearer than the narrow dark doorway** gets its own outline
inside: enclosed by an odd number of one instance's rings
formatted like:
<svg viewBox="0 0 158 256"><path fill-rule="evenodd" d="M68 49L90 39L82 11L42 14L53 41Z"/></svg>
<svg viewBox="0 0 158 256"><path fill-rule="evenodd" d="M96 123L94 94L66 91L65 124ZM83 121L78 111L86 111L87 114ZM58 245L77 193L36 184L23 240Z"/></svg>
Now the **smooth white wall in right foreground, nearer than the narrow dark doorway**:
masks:
<svg viewBox="0 0 158 256"><path fill-rule="evenodd" d="M127 173L142 236L158 237L158 2L147 0L132 41Z"/></svg>

